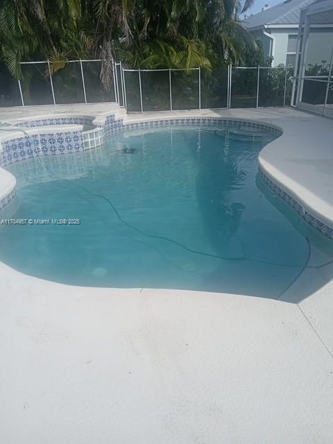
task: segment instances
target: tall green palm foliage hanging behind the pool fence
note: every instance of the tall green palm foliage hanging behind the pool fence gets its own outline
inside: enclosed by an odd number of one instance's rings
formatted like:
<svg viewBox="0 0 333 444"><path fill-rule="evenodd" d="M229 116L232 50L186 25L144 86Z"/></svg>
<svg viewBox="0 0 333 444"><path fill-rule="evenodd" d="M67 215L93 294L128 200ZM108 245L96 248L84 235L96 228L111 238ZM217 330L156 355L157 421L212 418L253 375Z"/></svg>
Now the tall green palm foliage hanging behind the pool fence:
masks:
<svg viewBox="0 0 333 444"><path fill-rule="evenodd" d="M128 67L206 70L246 62L257 45L239 22L253 0L3 0L1 59L16 78L19 62L103 58L101 79L111 80L111 58ZM48 73L46 72L47 76Z"/></svg>

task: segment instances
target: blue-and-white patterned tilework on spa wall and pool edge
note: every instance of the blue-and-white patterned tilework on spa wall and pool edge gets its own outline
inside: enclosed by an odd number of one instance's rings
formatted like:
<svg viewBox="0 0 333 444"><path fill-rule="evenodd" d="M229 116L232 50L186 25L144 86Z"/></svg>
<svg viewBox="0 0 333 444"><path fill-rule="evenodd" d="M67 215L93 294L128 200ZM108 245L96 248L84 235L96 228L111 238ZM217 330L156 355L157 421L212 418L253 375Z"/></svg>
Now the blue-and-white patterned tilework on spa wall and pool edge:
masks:
<svg viewBox="0 0 333 444"><path fill-rule="evenodd" d="M255 121L239 119L223 119L221 117L184 117L169 119L149 119L123 123L123 119L116 119L114 114L94 116L57 116L44 119L29 118L26 120L12 121L12 126L22 128L28 135L15 132L12 137L1 137L0 167L40 155L58 155L75 153L86 149L97 148L105 143L110 134L123 129L154 128L161 126L226 126L248 130L265 130L275 135L282 135L278 126ZM58 128L57 128L58 126ZM0 210L15 196L16 180L8 171L10 180L3 184L0 171ZM259 176L263 182L271 188L282 200L288 203L311 227L321 232L325 237L333 239L333 228L319 221L310 212L286 191L268 178L265 171L259 167ZM9 180L9 182L8 182Z"/></svg>

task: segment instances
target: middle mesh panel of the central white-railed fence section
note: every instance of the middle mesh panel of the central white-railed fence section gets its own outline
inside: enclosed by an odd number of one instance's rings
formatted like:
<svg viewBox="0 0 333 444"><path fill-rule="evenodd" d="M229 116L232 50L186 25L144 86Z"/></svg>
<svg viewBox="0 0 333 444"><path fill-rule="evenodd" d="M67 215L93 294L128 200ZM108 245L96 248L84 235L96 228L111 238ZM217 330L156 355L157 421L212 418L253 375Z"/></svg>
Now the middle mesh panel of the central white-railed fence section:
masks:
<svg viewBox="0 0 333 444"><path fill-rule="evenodd" d="M144 111L170 110L169 71L141 71Z"/></svg>

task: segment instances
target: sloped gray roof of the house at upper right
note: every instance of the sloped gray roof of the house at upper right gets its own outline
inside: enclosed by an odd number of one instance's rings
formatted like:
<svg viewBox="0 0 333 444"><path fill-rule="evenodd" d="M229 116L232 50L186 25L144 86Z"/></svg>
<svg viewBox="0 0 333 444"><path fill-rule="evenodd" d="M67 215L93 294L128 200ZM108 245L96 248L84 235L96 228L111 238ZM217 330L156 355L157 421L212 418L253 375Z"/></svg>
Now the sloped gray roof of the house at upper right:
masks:
<svg viewBox="0 0 333 444"><path fill-rule="evenodd" d="M246 28L257 28L258 26L298 25L300 22L300 10L314 3L314 0L285 0L278 5L272 6L255 15L244 19Z"/></svg>

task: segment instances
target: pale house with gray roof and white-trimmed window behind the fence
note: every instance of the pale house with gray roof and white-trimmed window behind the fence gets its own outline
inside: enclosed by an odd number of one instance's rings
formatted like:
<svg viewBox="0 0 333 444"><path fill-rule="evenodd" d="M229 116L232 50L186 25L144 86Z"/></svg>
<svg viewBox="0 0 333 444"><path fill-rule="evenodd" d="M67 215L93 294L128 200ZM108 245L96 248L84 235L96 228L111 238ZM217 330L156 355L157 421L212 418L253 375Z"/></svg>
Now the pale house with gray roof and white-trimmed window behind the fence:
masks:
<svg viewBox="0 0 333 444"><path fill-rule="evenodd" d="M272 66L295 66L300 11L314 0L285 0L278 5L244 17L243 24L256 40L262 42L265 58Z"/></svg>

